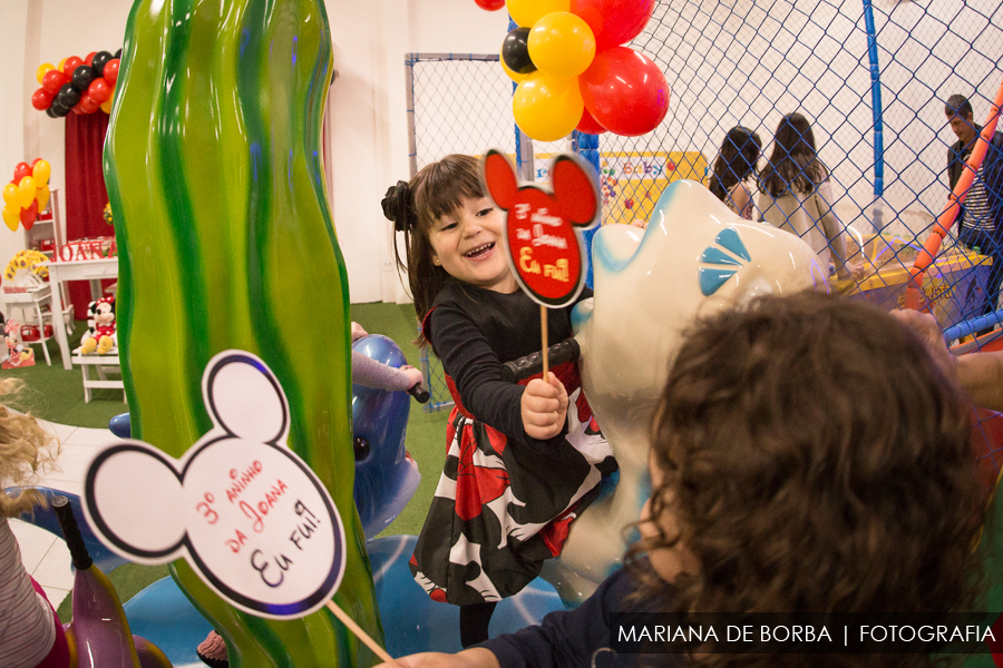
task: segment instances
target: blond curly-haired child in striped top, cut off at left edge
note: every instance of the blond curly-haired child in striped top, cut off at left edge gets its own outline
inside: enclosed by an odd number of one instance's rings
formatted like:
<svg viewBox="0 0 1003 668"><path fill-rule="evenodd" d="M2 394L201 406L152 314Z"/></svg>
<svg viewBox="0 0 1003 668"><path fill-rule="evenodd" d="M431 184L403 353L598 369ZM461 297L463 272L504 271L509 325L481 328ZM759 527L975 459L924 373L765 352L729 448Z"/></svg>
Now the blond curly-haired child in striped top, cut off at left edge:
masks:
<svg viewBox="0 0 1003 668"><path fill-rule="evenodd" d="M0 396L17 394L19 385L9 379L0 381ZM30 483L58 453L58 443L35 418L0 405L0 487ZM0 666L4 668L70 665L62 625L41 587L25 570L8 521L40 503L41 495L32 490L10 497L0 489Z"/></svg>

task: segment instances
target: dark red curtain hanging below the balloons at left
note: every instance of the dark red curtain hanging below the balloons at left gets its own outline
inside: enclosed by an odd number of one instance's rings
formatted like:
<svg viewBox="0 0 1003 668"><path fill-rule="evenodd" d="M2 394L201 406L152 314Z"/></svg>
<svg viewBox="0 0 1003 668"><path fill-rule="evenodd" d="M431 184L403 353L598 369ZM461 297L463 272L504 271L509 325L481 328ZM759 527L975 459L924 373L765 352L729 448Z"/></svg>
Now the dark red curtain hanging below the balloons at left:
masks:
<svg viewBox="0 0 1003 668"><path fill-rule="evenodd" d="M114 228L105 223L103 212L108 204L105 189L105 171L101 151L108 131L108 115L68 114L66 117L66 239L110 236ZM101 283L101 287L110 281ZM90 284L72 281L69 297L74 303L74 316L87 318L90 303Z"/></svg>

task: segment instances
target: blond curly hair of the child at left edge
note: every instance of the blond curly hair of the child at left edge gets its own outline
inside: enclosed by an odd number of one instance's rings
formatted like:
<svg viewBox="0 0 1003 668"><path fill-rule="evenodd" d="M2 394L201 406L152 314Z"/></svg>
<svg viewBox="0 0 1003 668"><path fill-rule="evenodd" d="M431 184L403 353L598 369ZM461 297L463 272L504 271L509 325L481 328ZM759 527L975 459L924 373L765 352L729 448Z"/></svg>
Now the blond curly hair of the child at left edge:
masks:
<svg viewBox="0 0 1003 668"><path fill-rule="evenodd" d="M20 381L0 380L0 396L17 395L21 386ZM14 518L45 503L33 490L25 490L17 497L2 490L8 485L30 484L37 472L55 463L58 456L59 442L39 426L35 416L0 404L0 515Z"/></svg>

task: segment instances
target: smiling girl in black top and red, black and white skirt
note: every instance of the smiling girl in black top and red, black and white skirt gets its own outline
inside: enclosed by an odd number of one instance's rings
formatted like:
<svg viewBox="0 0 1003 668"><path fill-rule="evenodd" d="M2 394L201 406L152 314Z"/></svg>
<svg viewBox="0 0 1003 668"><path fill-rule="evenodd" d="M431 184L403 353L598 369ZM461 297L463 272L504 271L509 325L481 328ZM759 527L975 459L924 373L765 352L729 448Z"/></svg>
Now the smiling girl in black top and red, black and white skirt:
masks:
<svg viewBox="0 0 1003 668"><path fill-rule="evenodd" d="M516 285L504 218L479 171L477 159L448 156L383 199L405 233L398 265L422 318L419 341L442 361L456 403L411 572L432 599L460 606L464 647L487 639L496 602L561 553L569 523L616 466L574 363L525 384L501 380L505 362L539 350L539 306ZM548 311L549 344L572 335L571 308Z"/></svg>

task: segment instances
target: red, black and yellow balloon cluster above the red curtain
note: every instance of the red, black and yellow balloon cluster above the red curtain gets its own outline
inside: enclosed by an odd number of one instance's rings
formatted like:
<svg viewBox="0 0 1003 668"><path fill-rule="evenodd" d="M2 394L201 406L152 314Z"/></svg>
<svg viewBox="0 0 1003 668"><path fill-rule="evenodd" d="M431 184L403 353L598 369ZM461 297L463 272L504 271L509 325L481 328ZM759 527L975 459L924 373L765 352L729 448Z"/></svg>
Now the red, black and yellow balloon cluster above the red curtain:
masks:
<svg viewBox="0 0 1003 668"><path fill-rule="evenodd" d="M59 67L40 65L35 76L41 88L31 96L31 106L49 118L62 118L70 111L94 114L98 109L111 114L120 56L121 49L115 56L95 51L82 60L77 56L64 58Z"/></svg>

